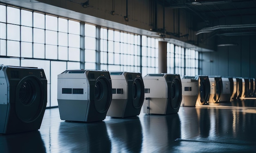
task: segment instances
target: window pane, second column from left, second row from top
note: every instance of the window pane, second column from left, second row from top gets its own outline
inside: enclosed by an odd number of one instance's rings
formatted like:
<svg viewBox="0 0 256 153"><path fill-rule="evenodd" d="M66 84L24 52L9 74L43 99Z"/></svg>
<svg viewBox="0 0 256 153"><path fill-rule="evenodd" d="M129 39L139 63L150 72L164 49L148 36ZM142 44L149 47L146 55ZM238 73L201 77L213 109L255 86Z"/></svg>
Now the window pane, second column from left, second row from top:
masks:
<svg viewBox="0 0 256 153"><path fill-rule="evenodd" d="M20 41L20 26L7 24L7 39Z"/></svg>

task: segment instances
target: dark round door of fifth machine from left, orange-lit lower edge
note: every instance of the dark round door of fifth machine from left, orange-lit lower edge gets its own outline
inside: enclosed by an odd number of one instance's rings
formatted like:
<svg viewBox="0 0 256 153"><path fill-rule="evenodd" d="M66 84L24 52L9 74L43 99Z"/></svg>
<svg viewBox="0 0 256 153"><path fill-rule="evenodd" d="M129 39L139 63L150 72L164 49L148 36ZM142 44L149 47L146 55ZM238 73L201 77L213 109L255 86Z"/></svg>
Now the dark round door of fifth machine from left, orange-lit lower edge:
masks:
<svg viewBox="0 0 256 153"><path fill-rule="evenodd" d="M200 105L204 105L207 103L209 100L209 95L210 95L210 83L208 79L200 79L199 80L199 98L200 98Z"/></svg>

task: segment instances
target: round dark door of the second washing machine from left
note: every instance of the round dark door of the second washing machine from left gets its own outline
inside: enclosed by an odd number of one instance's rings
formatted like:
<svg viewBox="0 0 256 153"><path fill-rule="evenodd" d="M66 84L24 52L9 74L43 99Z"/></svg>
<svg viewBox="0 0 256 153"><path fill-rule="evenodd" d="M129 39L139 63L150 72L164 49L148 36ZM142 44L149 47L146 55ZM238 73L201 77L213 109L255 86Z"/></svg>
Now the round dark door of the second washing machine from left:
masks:
<svg viewBox="0 0 256 153"><path fill-rule="evenodd" d="M99 113L108 111L112 99L110 81L106 77L98 77L95 81L94 106Z"/></svg>

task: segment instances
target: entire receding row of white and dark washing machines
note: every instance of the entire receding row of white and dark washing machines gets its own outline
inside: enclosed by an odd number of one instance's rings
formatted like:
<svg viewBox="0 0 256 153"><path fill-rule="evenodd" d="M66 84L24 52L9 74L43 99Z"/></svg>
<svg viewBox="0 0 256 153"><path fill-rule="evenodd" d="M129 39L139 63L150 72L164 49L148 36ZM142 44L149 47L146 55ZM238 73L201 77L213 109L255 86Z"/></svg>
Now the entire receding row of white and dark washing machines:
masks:
<svg viewBox="0 0 256 153"><path fill-rule="evenodd" d="M218 105L254 96L255 80L179 74L65 70L58 74L61 120L96 122L106 116L176 114L180 106ZM42 68L0 65L0 133L40 129L47 104ZM141 110L142 109L142 110Z"/></svg>

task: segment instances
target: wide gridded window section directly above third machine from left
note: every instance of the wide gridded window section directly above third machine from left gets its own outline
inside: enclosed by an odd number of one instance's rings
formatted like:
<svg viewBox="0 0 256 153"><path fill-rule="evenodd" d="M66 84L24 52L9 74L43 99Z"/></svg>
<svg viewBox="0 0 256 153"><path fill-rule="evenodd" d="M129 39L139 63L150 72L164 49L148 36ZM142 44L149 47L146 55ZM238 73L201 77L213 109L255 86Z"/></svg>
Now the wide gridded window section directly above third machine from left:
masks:
<svg viewBox="0 0 256 153"><path fill-rule="evenodd" d="M140 36L101 28L101 69L140 72Z"/></svg>

